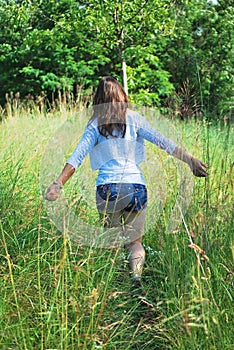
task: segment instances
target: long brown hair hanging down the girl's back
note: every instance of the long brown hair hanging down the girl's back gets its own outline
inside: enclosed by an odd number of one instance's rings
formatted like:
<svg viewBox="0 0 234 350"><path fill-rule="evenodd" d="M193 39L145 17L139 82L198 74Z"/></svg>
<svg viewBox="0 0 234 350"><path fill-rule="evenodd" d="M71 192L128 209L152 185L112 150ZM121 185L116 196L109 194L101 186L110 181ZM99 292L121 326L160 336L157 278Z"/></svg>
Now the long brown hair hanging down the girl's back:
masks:
<svg viewBox="0 0 234 350"><path fill-rule="evenodd" d="M125 136L128 97L123 87L111 76L103 77L93 98L93 115L98 119L98 130L108 138Z"/></svg>

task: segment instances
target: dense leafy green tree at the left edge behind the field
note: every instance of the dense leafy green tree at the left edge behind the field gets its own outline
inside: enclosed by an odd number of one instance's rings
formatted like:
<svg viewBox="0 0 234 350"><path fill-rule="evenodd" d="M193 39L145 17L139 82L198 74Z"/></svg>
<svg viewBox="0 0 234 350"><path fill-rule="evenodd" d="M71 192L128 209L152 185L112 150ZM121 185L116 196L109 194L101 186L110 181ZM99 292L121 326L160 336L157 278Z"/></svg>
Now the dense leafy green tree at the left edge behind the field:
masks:
<svg viewBox="0 0 234 350"><path fill-rule="evenodd" d="M94 57L94 51L101 52L100 45L90 41L75 1L4 1L2 5L2 103L8 91L20 91L23 97L42 92L50 96L73 90L77 82L93 83L98 66L106 60Z"/></svg>

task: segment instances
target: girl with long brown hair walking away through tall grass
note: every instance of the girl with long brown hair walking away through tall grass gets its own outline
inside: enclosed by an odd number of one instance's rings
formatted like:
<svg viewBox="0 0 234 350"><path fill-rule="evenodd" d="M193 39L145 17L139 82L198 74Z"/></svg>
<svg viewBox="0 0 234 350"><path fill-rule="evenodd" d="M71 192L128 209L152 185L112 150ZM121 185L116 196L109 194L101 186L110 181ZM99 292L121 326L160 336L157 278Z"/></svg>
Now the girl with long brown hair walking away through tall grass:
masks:
<svg viewBox="0 0 234 350"><path fill-rule="evenodd" d="M129 253L135 286L141 287L145 260L142 234L147 206L147 188L139 167L144 160L144 140L186 162L193 174L207 176L206 165L155 130L138 113L128 109L123 87L103 77L93 99L93 115L62 173L50 185L46 199L55 201L60 189L90 153L96 181L96 204L106 228L119 227Z"/></svg>

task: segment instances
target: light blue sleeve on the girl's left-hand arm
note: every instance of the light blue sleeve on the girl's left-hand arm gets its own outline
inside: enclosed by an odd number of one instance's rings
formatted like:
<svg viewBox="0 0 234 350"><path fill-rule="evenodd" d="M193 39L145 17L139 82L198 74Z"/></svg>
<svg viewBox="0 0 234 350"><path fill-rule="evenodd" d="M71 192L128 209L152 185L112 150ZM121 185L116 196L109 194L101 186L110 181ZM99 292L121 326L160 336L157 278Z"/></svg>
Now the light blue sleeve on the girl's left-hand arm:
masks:
<svg viewBox="0 0 234 350"><path fill-rule="evenodd" d="M72 165L75 169L78 168L96 143L97 129L93 125L86 126L81 140L77 144L71 157L67 160L67 164Z"/></svg>

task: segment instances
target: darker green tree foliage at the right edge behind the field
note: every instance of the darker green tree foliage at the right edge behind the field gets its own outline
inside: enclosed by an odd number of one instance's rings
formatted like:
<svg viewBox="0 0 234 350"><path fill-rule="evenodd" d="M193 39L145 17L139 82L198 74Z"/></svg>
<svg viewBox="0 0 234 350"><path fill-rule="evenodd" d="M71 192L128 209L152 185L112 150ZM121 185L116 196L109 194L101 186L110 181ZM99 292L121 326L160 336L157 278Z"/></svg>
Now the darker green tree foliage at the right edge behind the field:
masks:
<svg viewBox="0 0 234 350"><path fill-rule="evenodd" d="M230 115L233 100L231 1L186 1L179 5L173 38L166 45L165 69L177 91L180 114L202 111Z"/></svg>

